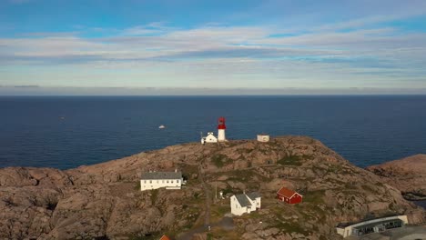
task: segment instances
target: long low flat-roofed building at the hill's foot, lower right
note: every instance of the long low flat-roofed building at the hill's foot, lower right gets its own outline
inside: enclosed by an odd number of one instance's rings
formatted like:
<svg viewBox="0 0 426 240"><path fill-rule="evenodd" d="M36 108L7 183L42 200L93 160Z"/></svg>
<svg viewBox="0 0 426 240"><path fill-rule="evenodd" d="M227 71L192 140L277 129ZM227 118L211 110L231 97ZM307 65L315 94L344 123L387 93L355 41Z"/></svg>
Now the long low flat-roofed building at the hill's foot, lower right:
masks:
<svg viewBox="0 0 426 240"><path fill-rule="evenodd" d="M382 218L376 218L359 223L349 223L337 225L336 230L343 237L361 236L370 233L380 233L388 229L402 227L408 224L407 215L394 215Z"/></svg>

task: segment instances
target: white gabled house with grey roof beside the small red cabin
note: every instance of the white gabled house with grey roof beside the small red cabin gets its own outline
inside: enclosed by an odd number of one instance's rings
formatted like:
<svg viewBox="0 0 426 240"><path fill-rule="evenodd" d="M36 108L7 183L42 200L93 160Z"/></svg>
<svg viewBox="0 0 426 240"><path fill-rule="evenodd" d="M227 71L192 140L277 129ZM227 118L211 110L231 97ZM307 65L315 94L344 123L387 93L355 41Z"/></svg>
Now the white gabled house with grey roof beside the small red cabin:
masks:
<svg viewBox="0 0 426 240"><path fill-rule="evenodd" d="M230 197L231 214L249 214L260 208L260 195L257 192L242 195L232 195Z"/></svg>

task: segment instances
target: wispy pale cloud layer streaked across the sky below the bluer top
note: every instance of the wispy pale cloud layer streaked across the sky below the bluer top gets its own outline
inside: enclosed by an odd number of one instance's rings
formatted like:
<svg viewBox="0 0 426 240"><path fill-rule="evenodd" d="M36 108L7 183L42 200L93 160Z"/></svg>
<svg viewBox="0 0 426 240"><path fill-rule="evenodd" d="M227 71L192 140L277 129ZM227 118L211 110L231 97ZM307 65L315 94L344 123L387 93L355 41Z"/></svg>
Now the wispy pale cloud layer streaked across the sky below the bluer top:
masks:
<svg viewBox="0 0 426 240"><path fill-rule="evenodd" d="M60 75L59 86L106 81L127 87L426 87L426 33L390 24L425 10L402 6L398 12L399 3L390 5L389 15L311 25L289 25L277 18L276 23L244 25L153 22L19 33L0 38L0 84L33 85L27 78L36 73L45 79L36 85L52 85Z"/></svg>

